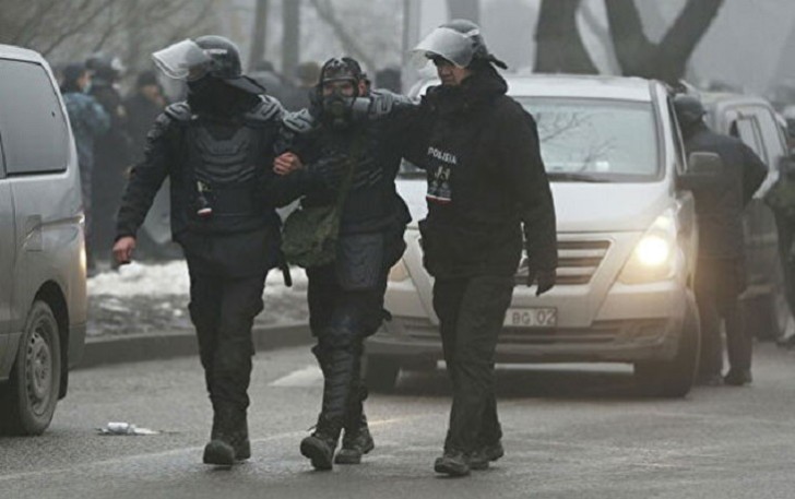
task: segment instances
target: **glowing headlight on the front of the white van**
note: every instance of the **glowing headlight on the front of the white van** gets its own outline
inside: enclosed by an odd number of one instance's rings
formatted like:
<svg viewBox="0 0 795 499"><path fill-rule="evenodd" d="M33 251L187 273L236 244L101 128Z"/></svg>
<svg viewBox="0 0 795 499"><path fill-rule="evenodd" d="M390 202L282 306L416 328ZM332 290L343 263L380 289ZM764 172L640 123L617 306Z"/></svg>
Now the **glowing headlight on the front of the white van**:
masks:
<svg viewBox="0 0 795 499"><path fill-rule="evenodd" d="M638 241L618 281L641 284L672 278L676 269L676 233L674 212L667 210Z"/></svg>

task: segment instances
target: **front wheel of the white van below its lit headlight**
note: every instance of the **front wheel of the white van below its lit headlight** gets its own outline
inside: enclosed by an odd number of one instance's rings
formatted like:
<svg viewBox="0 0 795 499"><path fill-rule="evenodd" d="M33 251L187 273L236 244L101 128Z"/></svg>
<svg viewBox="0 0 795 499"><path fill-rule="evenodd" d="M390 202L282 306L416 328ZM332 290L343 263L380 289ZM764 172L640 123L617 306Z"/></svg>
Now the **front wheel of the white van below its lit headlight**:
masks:
<svg viewBox="0 0 795 499"><path fill-rule="evenodd" d="M674 358L634 364L634 378L641 391L650 396L671 399L687 395L696 380L700 345L696 299L688 293L687 312Z"/></svg>

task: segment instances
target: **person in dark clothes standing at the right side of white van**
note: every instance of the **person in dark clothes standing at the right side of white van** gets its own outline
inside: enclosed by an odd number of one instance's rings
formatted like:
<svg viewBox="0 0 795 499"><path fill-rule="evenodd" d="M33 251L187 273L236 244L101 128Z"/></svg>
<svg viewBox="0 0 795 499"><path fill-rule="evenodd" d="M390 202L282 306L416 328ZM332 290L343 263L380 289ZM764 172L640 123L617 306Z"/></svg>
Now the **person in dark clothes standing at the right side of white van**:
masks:
<svg viewBox="0 0 795 499"><path fill-rule="evenodd" d="M767 167L740 140L713 132L704 122L701 102L691 95L674 100L685 148L715 153L723 170L713 182L693 191L699 223L696 301L701 316L701 384L741 385L751 382L751 334L746 330L740 293L746 288L743 210L767 176ZM729 370L721 378L725 324Z"/></svg>

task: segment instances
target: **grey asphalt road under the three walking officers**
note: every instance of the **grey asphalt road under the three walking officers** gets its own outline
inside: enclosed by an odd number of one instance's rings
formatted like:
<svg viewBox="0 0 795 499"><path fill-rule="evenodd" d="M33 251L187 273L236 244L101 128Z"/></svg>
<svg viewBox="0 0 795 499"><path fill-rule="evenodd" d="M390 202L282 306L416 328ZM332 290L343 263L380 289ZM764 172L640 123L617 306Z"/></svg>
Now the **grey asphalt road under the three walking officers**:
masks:
<svg viewBox="0 0 795 499"><path fill-rule="evenodd" d="M198 359L73 373L39 438L0 439L0 498L792 498L795 354L758 348L750 388L649 400L628 369L500 369L507 454L485 472L432 472L449 409L442 371L404 375L368 400L376 450L313 472L298 442L321 378L307 348L260 353L250 390L253 458L201 464L211 413ZM165 431L100 436L108 421Z"/></svg>

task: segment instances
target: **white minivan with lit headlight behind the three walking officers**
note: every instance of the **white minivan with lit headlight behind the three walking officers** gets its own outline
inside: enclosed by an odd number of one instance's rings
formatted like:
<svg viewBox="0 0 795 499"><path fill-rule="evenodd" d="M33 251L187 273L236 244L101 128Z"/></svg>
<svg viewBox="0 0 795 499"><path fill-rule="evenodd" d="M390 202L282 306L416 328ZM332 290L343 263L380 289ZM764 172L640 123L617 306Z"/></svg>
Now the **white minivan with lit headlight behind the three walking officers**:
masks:
<svg viewBox="0 0 795 499"><path fill-rule="evenodd" d="M685 395L700 344L698 237L686 189L697 175L687 170L668 88L636 78L507 80L509 95L538 123L559 268L555 288L536 297L524 285L526 261L520 266L497 361L628 363L645 392ZM385 308L393 319L367 342L373 388L391 388L402 368L442 359L417 229L427 213L425 189L422 171L406 169L399 180L414 222L390 274Z"/></svg>

